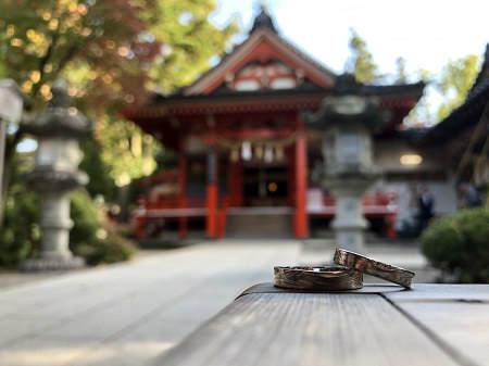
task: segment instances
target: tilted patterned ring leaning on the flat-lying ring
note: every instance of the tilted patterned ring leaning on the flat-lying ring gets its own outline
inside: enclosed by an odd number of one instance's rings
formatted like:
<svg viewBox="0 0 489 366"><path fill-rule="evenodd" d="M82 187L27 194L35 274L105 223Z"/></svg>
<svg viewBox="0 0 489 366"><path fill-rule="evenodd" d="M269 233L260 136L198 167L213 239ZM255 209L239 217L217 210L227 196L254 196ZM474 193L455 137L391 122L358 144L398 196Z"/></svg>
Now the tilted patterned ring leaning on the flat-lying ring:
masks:
<svg viewBox="0 0 489 366"><path fill-rule="evenodd" d="M364 274L411 289L411 282L414 277L414 273L411 270L377 262L344 249L337 249L333 261L341 266L354 268Z"/></svg>

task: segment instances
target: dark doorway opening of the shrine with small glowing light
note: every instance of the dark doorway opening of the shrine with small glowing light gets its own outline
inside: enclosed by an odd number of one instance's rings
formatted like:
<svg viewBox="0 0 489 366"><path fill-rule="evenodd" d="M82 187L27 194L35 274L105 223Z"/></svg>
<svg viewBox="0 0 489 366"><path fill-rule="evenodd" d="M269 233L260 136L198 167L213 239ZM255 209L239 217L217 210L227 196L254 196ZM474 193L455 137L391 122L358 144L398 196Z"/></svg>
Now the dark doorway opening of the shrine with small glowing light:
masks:
<svg viewBox="0 0 489 366"><path fill-rule="evenodd" d="M287 166L244 166L244 206L285 206L288 204Z"/></svg>

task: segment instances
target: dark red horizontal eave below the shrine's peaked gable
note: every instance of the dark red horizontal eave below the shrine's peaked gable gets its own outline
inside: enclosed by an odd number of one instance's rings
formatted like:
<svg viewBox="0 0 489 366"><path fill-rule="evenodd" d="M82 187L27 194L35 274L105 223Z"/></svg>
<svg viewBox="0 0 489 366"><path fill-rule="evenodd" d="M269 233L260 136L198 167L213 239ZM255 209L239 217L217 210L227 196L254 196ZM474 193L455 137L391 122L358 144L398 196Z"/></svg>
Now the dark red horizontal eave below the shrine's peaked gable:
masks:
<svg viewBox="0 0 489 366"><path fill-rule="evenodd" d="M391 112L384 134L391 134L423 94L423 85L367 87L363 94L378 97L381 108ZM158 136L165 146L176 149L181 134L192 124L205 124L209 117L246 121L250 115L261 118L293 117L302 111L316 111L330 90L298 92L294 90L241 92L225 96L156 97L149 105L126 110L125 117L147 132ZM227 117L226 117L227 116ZM258 119L256 119L258 121Z"/></svg>

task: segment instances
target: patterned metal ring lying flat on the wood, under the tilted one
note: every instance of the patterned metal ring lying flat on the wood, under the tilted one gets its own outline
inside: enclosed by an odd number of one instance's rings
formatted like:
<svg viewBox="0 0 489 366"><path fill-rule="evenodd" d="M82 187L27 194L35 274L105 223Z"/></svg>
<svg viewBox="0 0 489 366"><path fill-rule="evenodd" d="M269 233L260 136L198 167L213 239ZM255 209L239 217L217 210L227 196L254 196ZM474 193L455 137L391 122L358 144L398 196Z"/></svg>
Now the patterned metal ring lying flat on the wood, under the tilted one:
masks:
<svg viewBox="0 0 489 366"><path fill-rule="evenodd" d="M356 290L363 287L363 275L342 266L274 267L274 286L312 291Z"/></svg>

